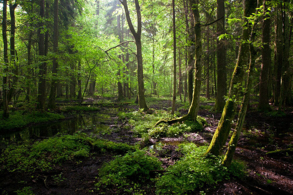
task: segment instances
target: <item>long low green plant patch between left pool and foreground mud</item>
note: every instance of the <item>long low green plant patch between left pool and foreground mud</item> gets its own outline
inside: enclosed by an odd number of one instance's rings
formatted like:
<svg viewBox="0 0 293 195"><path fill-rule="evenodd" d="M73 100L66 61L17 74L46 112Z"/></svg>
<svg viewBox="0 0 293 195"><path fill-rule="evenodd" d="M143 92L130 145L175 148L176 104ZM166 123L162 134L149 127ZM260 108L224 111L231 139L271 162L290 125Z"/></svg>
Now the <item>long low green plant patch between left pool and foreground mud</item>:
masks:
<svg viewBox="0 0 293 195"><path fill-rule="evenodd" d="M106 150L126 153L134 151L134 146L88 137L83 133L55 136L34 144L25 142L18 146L8 146L0 156L0 170L10 172L51 170L56 164L64 161L88 157L91 155L90 151Z"/></svg>

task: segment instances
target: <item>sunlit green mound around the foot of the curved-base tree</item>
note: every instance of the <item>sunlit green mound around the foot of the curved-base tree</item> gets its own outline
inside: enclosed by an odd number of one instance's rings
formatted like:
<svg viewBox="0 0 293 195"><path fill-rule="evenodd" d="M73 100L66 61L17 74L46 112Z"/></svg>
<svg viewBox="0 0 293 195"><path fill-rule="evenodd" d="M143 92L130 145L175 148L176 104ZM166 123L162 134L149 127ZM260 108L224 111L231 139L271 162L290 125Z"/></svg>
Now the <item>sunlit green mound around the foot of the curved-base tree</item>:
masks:
<svg viewBox="0 0 293 195"><path fill-rule="evenodd" d="M152 114L142 111L134 111L129 113L118 113L120 119L128 119L130 125L133 125L133 132L141 137L176 137L184 132L197 132L207 125L205 118L197 116L197 121L186 120L183 123L175 123L173 125L161 124L154 127L158 120L162 118L171 119L174 115L168 114L166 111L156 110Z"/></svg>

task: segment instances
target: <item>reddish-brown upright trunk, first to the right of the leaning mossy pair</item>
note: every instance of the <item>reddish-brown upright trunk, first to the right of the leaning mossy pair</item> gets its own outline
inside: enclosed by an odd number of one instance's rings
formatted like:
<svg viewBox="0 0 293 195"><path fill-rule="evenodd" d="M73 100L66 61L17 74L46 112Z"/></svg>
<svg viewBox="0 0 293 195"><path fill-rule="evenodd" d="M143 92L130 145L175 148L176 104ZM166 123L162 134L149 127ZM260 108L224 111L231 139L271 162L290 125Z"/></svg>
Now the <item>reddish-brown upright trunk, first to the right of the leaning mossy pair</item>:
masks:
<svg viewBox="0 0 293 195"><path fill-rule="evenodd" d="M263 1L264 12L266 13L267 1ZM261 71L259 81L259 101L258 110L270 111L269 97L268 97L268 70L270 68L270 16L263 16L263 30L262 30L262 42L263 48L261 49ZM266 18L266 19L265 19Z"/></svg>

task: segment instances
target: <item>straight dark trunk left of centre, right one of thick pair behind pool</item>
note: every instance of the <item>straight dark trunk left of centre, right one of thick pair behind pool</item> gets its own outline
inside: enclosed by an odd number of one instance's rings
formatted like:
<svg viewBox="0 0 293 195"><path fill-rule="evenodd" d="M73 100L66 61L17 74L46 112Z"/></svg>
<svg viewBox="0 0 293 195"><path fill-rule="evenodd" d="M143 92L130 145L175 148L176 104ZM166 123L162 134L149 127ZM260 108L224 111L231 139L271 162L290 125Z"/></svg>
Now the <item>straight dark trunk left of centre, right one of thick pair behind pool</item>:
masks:
<svg viewBox="0 0 293 195"><path fill-rule="evenodd" d="M59 26L58 26L58 0L54 0L54 24L53 24L53 52L57 55L58 52L58 37L59 37ZM57 88L57 74L58 74L58 62L57 59L53 58L52 64L52 83L49 95L48 108L55 109L56 108L56 88Z"/></svg>

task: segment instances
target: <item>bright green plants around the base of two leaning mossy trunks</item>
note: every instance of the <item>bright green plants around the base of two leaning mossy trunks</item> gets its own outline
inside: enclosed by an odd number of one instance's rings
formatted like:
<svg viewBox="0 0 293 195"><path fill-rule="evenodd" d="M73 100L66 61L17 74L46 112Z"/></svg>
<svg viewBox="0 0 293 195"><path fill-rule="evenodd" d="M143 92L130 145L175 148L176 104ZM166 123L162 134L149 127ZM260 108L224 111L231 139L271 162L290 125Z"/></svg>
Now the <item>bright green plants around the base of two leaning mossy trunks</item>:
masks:
<svg viewBox="0 0 293 195"><path fill-rule="evenodd" d="M156 194L192 194L205 184L217 184L231 177L243 177L243 163L233 161L228 169L221 165L222 157L203 156L207 146L180 144L184 157L156 182Z"/></svg>

